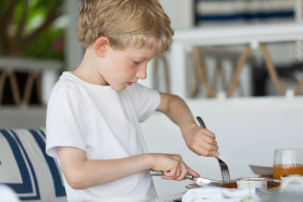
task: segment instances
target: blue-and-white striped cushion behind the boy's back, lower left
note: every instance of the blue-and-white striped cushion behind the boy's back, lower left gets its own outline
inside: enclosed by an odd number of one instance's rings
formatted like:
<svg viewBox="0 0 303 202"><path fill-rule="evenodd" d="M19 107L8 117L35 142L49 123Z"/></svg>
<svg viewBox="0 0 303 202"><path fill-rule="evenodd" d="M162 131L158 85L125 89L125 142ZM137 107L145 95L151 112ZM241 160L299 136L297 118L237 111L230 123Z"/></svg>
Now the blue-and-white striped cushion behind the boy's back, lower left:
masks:
<svg viewBox="0 0 303 202"><path fill-rule="evenodd" d="M61 169L45 154L45 128L0 129L0 183L22 201L67 201Z"/></svg>

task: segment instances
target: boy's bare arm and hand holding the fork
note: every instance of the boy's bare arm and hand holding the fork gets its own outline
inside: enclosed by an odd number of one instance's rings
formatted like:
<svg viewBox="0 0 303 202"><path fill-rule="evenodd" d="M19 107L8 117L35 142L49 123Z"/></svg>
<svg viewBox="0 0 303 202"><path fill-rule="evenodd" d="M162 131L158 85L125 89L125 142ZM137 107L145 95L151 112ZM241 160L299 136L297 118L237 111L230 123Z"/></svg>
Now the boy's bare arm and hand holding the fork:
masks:
<svg viewBox="0 0 303 202"><path fill-rule="evenodd" d="M199 127L182 98L176 95L160 92L161 101L157 111L164 113L177 124L188 148L195 154L202 156L219 156L215 135Z"/></svg>

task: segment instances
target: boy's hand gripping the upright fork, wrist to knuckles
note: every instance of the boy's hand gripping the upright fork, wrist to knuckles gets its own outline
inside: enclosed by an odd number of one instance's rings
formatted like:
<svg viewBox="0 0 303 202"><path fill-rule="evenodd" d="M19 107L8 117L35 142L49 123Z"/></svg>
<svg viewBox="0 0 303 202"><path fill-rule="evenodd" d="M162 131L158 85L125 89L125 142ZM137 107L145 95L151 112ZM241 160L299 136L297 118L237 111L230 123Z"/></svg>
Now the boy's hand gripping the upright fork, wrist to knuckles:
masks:
<svg viewBox="0 0 303 202"><path fill-rule="evenodd" d="M186 145L198 156L218 157L219 151L214 133L203 127L192 125L182 131Z"/></svg>

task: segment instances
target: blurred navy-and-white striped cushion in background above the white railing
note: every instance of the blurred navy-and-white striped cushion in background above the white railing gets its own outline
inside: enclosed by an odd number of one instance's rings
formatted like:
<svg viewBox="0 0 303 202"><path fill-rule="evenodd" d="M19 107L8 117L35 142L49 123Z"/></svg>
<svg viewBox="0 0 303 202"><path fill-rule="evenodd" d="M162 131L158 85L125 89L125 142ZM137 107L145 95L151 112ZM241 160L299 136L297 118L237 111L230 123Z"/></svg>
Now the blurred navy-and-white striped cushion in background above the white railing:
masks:
<svg viewBox="0 0 303 202"><path fill-rule="evenodd" d="M295 0L196 0L196 20L222 23L239 20L293 20Z"/></svg>

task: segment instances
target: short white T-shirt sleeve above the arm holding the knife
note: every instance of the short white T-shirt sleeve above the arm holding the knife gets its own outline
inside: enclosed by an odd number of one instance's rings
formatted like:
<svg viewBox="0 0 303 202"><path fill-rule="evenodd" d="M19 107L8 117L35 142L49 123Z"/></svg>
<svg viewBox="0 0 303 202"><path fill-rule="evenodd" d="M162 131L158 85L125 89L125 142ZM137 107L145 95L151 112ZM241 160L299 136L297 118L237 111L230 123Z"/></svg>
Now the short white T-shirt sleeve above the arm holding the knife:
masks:
<svg viewBox="0 0 303 202"><path fill-rule="evenodd" d="M85 113L76 93L58 89L50 98L46 113L46 154L58 158L58 146L86 151Z"/></svg>

